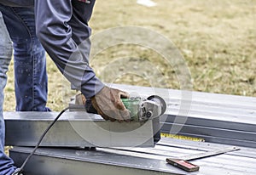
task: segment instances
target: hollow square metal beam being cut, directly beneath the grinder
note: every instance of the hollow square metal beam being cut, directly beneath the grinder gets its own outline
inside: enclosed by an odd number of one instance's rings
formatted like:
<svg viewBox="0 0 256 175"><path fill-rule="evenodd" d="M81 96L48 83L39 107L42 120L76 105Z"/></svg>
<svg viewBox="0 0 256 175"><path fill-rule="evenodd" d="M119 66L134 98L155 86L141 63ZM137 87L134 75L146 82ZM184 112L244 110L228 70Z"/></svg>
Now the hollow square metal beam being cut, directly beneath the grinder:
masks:
<svg viewBox="0 0 256 175"><path fill-rule="evenodd" d="M34 146L56 112L7 112L6 145ZM140 123L104 121L101 116L84 111L66 112L46 134L42 146L54 147L154 147L159 121ZM160 136L159 136L160 138Z"/></svg>

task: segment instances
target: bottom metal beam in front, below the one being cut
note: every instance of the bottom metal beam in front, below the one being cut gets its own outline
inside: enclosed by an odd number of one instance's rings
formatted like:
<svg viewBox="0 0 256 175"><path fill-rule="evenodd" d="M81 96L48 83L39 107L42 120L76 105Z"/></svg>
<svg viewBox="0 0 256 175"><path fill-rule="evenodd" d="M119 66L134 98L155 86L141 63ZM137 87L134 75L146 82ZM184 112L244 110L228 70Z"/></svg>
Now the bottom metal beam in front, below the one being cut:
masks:
<svg viewBox="0 0 256 175"><path fill-rule="evenodd" d="M16 166L32 149L15 148L10 156ZM166 164L166 161L118 155L107 151L39 149L25 167L27 175L172 175L186 174Z"/></svg>

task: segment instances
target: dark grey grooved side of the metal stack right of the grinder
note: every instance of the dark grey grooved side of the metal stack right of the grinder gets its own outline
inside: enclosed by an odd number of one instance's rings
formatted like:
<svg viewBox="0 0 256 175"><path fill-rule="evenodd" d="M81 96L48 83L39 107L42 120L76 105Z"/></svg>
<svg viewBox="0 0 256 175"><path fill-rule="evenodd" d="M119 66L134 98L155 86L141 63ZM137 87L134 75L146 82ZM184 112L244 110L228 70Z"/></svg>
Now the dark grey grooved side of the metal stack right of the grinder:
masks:
<svg viewBox="0 0 256 175"><path fill-rule="evenodd" d="M162 116L161 133L179 134L194 138L204 138L205 141L218 144L234 144L256 148L255 124L233 121L217 121L188 117L185 123L175 121L177 116ZM182 116L181 116L182 117ZM180 128L172 132L172 128Z"/></svg>

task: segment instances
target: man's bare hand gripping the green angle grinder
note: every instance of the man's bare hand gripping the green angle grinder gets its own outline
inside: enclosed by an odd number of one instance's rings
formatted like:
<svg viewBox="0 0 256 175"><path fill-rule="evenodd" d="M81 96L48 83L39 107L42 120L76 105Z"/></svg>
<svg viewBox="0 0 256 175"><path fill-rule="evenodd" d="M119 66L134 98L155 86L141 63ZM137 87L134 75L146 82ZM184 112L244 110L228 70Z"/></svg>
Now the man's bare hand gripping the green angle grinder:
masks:
<svg viewBox="0 0 256 175"><path fill-rule="evenodd" d="M104 87L91 98L91 104L106 121L130 121L130 112L121 98L129 98L129 94L119 89Z"/></svg>

